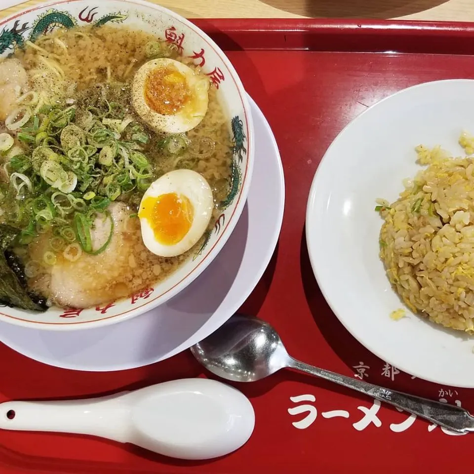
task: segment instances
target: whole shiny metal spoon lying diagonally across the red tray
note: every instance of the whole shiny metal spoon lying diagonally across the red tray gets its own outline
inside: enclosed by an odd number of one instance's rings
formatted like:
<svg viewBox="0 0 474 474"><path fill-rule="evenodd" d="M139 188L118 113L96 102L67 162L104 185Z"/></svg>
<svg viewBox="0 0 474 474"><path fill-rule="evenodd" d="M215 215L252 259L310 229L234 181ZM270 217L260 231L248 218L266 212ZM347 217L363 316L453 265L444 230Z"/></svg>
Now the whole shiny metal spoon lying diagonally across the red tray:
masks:
<svg viewBox="0 0 474 474"><path fill-rule="evenodd" d="M216 332L191 348L210 372L235 382L254 382L290 367L385 401L458 433L474 431L474 417L448 405L305 364L289 356L275 329L260 319L235 315Z"/></svg>

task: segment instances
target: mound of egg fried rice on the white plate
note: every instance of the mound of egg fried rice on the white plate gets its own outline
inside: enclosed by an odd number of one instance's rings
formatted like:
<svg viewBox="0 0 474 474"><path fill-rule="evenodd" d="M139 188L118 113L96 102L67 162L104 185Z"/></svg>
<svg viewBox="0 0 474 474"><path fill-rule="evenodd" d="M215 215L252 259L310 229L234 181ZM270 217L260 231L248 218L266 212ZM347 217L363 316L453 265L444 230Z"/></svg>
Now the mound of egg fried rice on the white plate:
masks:
<svg viewBox="0 0 474 474"><path fill-rule="evenodd" d="M474 137L460 140L467 156L440 147L416 148L428 165L390 204L377 199L384 219L380 258L387 276L414 313L474 334Z"/></svg>

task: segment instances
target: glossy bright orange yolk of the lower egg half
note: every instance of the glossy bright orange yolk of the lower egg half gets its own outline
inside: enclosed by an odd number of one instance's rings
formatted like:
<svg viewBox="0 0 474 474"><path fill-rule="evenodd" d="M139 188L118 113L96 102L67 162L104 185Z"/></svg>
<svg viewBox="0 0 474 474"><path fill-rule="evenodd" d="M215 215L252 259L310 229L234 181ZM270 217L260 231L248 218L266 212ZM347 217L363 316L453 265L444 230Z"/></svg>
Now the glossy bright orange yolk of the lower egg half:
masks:
<svg viewBox="0 0 474 474"><path fill-rule="evenodd" d="M176 193L146 197L138 212L153 229L157 242L174 245L183 239L193 223L194 208L190 200Z"/></svg>

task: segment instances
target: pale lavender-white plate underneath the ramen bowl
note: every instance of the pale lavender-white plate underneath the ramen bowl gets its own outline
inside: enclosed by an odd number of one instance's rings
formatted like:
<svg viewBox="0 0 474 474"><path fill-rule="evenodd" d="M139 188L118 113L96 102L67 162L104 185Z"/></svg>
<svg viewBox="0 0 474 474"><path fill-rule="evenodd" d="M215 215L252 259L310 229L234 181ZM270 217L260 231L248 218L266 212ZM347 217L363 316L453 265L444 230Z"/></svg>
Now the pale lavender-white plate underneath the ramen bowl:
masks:
<svg viewBox="0 0 474 474"><path fill-rule="evenodd" d="M0 340L15 351L66 369L112 371L174 356L214 332L250 295L275 250L284 178L272 130L250 99L256 157L247 203L215 260L178 296L111 326L58 332L0 322ZM265 183L265 186L262 186Z"/></svg>

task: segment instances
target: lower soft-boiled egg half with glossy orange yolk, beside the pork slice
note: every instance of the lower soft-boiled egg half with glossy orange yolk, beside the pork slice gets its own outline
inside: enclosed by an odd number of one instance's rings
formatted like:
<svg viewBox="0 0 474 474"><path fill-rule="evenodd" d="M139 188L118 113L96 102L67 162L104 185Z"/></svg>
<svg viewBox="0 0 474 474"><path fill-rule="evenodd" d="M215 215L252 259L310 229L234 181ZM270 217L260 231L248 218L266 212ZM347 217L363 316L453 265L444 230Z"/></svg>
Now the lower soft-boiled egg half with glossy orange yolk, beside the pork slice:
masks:
<svg viewBox="0 0 474 474"><path fill-rule="evenodd" d="M213 206L211 188L196 171L177 169L164 174L140 203L143 243L161 257L181 255L204 234Z"/></svg>

